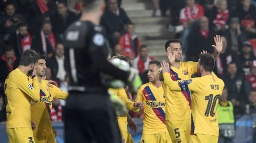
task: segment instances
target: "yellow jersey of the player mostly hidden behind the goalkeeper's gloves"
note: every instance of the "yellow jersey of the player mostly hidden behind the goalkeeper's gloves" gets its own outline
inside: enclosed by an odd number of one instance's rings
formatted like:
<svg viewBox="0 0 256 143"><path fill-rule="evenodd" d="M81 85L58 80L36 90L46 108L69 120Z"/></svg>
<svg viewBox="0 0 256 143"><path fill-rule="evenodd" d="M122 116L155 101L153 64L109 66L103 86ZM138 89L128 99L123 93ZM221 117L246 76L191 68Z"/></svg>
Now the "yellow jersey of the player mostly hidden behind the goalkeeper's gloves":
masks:
<svg viewBox="0 0 256 143"><path fill-rule="evenodd" d="M127 98L127 95L126 95L126 92L125 92L124 88L119 88L119 89L109 88L109 92L111 92L112 94L117 95L125 103L127 109L134 110L134 112L140 111L140 109L135 109L134 106L133 106L134 102L130 101ZM123 131L127 131L127 115L118 116L117 121L118 121L119 129L123 130Z"/></svg>

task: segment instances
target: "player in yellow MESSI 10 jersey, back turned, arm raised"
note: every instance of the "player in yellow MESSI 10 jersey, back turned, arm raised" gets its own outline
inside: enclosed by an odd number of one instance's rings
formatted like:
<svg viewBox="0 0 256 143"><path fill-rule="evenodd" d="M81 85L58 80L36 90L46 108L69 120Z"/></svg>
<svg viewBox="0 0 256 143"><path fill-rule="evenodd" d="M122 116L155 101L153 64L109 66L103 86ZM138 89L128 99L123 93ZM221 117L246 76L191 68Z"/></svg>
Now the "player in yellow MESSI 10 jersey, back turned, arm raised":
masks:
<svg viewBox="0 0 256 143"><path fill-rule="evenodd" d="M174 58L172 57L173 60ZM198 72L201 73L201 77L175 82L169 73L169 63L162 62L164 83L169 89L191 91L192 123L189 143L218 142L219 126L216 109L224 82L212 72L214 64L214 57L211 54L200 54Z"/></svg>

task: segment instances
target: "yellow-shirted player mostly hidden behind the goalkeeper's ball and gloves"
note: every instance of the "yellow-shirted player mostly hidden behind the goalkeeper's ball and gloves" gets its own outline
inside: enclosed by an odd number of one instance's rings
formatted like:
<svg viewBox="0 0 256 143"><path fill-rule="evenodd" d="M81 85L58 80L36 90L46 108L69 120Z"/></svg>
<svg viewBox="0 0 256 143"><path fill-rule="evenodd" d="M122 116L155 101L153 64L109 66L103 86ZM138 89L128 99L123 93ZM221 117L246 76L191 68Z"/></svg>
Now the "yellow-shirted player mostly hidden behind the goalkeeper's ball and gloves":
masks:
<svg viewBox="0 0 256 143"><path fill-rule="evenodd" d="M111 59L121 59L123 61L126 61L129 65L131 64L130 59L128 59L124 55L115 55ZM120 88L120 89L112 89L111 88L111 89L109 89L109 91L112 94L115 94L119 98L121 98L121 100L125 103L127 109L134 110L134 112L138 112L138 111L140 111L139 109L143 108L143 102L132 102L128 99L128 97L126 95L126 91L125 91L124 88ZM129 116L129 114L125 114L125 116L118 116L117 117L118 126L119 126L119 129L120 129L121 135L122 135L123 143L128 143L131 140L132 140L132 142L134 142L131 134L127 130L127 124L128 124L128 122L127 122L128 118L127 117L129 118L130 122L134 122L133 119ZM136 128L137 127L133 126L134 131L137 130Z"/></svg>

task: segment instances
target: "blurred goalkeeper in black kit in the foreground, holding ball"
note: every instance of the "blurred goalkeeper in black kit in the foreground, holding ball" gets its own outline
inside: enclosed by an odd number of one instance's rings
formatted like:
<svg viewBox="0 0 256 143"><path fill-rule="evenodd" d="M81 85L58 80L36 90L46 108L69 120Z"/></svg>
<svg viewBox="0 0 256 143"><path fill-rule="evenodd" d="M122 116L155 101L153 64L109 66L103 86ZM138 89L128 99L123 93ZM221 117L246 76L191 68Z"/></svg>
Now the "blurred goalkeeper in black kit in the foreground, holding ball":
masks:
<svg viewBox="0 0 256 143"><path fill-rule="evenodd" d="M104 0L83 0L80 21L65 33L65 57L70 61L69 97L65 114L66 143L120 143L116 116L100 72L121 79L137 90L141 84L134 69L123 71L107 61L109 44L99 26Z"/></svg>

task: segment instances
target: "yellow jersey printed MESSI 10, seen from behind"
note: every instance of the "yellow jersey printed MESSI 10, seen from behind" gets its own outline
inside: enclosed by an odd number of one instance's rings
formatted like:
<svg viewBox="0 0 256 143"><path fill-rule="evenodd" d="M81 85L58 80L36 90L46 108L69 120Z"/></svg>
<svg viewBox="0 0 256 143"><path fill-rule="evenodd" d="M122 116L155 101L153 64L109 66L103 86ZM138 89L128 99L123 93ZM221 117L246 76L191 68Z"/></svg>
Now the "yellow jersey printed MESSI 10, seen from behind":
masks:
<svg viewBox="0 0 256 143"><path fill-rule="evenodd" d="M172 81L169 73L164 73L163 77L165 84L171 90L191 91L191 133L218 136L219 126L216 109L224 88L224 82L213 72L212 75L180 80L179 82Z"/></svg>

